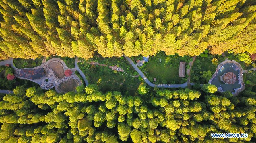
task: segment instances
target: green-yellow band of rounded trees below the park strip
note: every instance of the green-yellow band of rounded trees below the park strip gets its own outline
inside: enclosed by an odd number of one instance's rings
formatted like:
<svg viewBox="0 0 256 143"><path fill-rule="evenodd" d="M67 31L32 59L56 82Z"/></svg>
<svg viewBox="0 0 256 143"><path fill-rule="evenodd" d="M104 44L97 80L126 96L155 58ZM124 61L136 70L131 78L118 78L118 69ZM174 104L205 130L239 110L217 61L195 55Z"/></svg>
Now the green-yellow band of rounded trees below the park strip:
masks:
<svg viewBox="0 0 256 143"><path fill-rule="evenodd" d="M142 95L129 96L103 94L94 84L66 94L18 86L14 94L0 96L0 141L245 142L255 137L255 93L234 97L202 88L147 94L141 86ZM248 133L248 138L217 139L210 133Z"/></svg>

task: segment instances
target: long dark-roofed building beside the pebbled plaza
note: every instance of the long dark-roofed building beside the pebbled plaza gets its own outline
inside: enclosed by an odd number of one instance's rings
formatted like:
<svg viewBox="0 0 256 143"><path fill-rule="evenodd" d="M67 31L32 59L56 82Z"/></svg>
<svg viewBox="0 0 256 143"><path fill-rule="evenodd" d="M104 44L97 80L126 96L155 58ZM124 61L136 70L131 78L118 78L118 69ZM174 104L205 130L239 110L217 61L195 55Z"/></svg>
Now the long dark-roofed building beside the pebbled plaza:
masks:
<svg viewBox="0 0 256 143"><path fill-rule="evenodd" d="M45 76L44 68L38 68L36 70L29 70L29 69L22 68L19 74L19 77L23 77L25 79L32 79L32 80L39 79L44 76Z"/></svg>

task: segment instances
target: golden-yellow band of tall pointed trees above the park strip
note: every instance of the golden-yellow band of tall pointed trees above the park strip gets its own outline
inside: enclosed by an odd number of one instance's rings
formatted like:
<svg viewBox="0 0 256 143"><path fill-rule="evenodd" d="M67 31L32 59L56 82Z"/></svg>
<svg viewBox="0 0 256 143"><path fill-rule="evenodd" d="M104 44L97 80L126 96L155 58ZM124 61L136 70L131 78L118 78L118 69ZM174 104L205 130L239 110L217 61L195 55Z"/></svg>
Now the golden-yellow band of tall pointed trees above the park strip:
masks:
<svg viewBox="0 0 256 143"><path fill-rule="evenodd" d="M0 0L0 58L256 51L254 0Z"/></svg>

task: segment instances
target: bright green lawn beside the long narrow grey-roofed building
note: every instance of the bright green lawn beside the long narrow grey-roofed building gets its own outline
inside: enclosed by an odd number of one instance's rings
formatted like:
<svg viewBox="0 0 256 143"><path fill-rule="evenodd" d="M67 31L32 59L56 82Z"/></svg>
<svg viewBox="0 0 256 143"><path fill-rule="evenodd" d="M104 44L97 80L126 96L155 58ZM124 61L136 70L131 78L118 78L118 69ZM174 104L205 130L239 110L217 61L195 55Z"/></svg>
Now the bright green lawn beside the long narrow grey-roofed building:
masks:
<svg viewBox="0 0 256 143"><path fill-rule="evenodd" d="M185 83L187 79L179 77L179 62L188 63L189 59L190 58L187 56L166 56L163 52L160 52L155 56L151 56L149 62L144 63L141 70L151 82L153 78L156 78L159 84L181 84Z"/></svg>

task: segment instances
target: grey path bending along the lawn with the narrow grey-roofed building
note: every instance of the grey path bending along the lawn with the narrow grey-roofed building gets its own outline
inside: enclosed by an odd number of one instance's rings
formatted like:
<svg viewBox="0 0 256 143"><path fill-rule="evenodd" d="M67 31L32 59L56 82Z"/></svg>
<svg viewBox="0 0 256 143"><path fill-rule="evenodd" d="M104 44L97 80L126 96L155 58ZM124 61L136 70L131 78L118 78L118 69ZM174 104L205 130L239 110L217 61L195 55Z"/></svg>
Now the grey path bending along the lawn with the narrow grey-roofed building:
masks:
<svg viewBox="0 0 256 143"><path fill-rule="evenodd" d="M154 84L151 83L148 78L143 74L143 72L141 72L141 70L134 64L134 62L127 56L123 55L123 57L126 58L126 60L133 66L133 68L139 73L139 75L143 78L143 80L151 87L159 87L159 88L185 88L187 86L187 82L183 83L183 84ZM191 83L190 85L193 85L193 83Z"/></svg>

